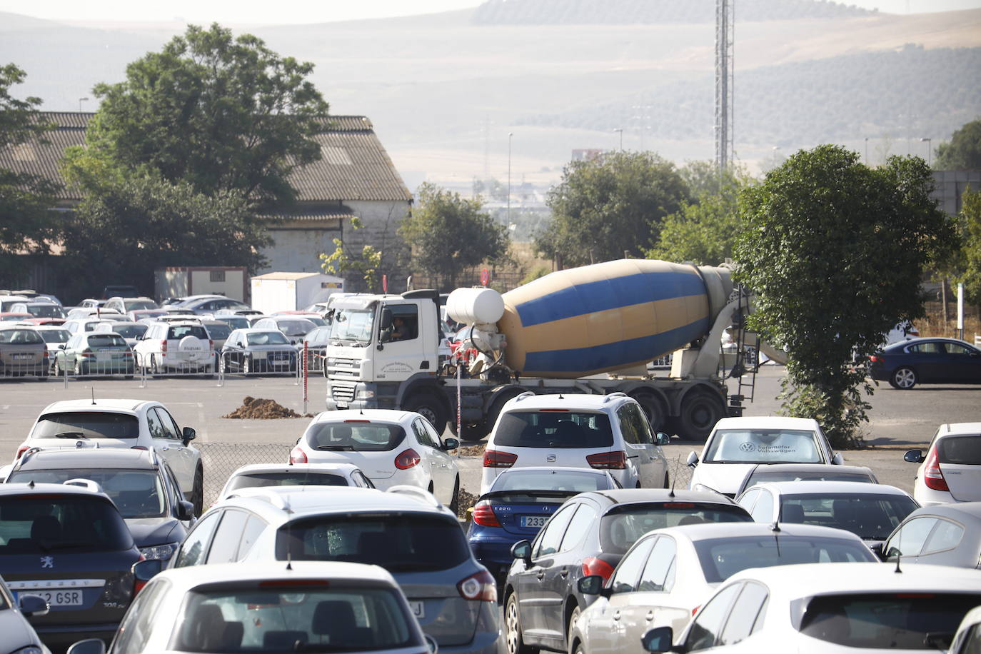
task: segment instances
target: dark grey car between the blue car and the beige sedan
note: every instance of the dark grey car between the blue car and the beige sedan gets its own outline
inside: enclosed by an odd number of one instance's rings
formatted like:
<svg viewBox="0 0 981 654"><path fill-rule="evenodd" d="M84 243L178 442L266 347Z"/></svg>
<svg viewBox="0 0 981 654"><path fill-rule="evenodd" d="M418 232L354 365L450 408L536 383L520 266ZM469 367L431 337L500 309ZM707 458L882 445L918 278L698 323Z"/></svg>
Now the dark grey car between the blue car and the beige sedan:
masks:
<svg viewBox="0 0 981 654"><path fill-rule="evenodd" d="M533 542L521 540L511 549L514 562L503 589L507 653L568 651L570 625L595 599L579 591L579 579L609 579L647 531L749 522L745 509L709 491L629 488L576 495L552 514Z"/></svg>

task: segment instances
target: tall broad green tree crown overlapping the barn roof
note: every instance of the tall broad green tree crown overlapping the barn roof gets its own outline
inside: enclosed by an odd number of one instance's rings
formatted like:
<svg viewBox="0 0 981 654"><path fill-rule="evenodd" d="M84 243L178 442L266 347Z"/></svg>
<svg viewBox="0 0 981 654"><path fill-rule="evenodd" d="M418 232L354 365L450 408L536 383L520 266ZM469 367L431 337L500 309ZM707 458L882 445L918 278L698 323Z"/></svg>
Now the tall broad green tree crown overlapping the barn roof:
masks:
<svg viewBox="0 0 981 654"><path fill-rule="evenodd" d="M328 126L312 72L251 34L189 25L129 64L125 81L96 84L89 149L129 174L288 203L287 176L320 159L313 137Z"/></svg>

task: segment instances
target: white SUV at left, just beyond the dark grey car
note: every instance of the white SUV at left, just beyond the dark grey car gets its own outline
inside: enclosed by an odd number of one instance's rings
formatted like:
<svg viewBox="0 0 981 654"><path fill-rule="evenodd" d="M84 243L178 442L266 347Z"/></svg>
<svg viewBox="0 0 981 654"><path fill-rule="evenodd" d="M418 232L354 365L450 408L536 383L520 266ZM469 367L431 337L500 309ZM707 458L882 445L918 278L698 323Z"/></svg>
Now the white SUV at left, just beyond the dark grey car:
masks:
<svg viewBox="0 0 981 654"><path fill-rule="evenodd" d="M26 440L17 448L15 461L32 447L152 448L170 465L184 498L194 505L194 515L199 516L204 501L204 468L201 452L190 445L195 437L194 429L178 427L160 402L62 400L41 411Z"/></svg>

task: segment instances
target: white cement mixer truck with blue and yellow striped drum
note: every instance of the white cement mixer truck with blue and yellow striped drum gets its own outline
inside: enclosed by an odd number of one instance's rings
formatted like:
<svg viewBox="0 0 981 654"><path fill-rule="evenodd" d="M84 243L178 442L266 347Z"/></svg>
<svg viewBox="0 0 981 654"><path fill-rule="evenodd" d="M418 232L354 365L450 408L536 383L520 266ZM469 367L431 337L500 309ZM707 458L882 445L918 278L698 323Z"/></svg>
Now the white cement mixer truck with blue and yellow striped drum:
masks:
<svg viewBox="0 0 981 654"><path fill-rule="evenodd" d="M349 295L333 306L328 410L416 411L441 432L455 428L459 408L468 439L485 436L504 403L527 391L626 393L652 428L693 440L740 412L718 376L722 332L749 311L727 268L625 259L503 295L456 289L445 310L467 326L460 345L477 356L465 362L440 361L437 291ZM648 371L670 352L670 375Z"/></svg>

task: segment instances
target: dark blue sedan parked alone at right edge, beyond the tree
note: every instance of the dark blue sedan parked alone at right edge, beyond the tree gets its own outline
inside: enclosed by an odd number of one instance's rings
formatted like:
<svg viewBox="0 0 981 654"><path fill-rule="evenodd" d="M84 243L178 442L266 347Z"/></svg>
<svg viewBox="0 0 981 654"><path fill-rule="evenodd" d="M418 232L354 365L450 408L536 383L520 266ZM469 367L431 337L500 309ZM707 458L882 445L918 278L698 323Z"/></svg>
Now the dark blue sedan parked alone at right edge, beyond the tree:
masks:
<svg viewBox="0 0 981 654"><path fill-rule="evenodd" d="M917 383L981 383L981 350L956 338L913 338L869 358L869 375L908 390Z"/></svg>

